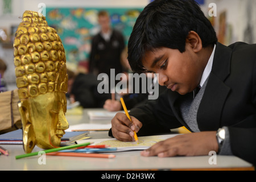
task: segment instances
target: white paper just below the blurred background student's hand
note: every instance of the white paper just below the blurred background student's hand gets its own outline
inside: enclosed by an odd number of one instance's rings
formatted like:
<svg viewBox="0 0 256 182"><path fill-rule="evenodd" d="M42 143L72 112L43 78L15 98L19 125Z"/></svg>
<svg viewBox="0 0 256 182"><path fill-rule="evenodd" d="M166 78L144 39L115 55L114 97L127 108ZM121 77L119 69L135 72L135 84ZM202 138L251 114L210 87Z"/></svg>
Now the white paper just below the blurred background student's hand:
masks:
<svg viewBox="0 0 256 182"><path fill-rule="evenodd" d="M117 113L125 113L125 111L114 111L114 112L110 112L110 111L106 111L106 110L88 111L89 118L92 120L94 120L94 119L112 119L112 118L114 118L115 114L117 114Z"/></svg>

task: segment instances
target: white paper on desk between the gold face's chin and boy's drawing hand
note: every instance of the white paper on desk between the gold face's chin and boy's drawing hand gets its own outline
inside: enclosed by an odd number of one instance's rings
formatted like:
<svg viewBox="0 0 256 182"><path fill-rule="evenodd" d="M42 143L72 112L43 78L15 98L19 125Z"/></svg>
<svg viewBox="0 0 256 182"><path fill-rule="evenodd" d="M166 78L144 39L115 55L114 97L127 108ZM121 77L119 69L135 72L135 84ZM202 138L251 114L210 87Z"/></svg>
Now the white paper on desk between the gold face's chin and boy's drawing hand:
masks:
<svg viewBox="0 0 256 182"><path fill-rule="evenodd" d="M109 130L111 128L111 123L108 124L92 124L92 123L82 123L79 125L71 125L65 131L73 131L73 130Z"/></svg>

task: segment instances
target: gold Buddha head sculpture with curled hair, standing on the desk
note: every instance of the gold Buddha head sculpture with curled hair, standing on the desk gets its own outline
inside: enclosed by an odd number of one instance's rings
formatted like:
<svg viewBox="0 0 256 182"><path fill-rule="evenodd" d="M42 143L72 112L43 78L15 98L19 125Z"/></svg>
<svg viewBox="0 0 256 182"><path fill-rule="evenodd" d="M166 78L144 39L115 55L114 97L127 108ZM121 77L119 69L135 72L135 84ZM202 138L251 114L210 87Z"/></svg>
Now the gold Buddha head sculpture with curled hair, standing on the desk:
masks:
<svg viewBox="0 0 256 182"><path fill-rule="evenodd" d="M14 39L14 65L22 118L23 148L60 146L68 129L67 67L65 51L56 30L46 18L25 11Z"/></svg>

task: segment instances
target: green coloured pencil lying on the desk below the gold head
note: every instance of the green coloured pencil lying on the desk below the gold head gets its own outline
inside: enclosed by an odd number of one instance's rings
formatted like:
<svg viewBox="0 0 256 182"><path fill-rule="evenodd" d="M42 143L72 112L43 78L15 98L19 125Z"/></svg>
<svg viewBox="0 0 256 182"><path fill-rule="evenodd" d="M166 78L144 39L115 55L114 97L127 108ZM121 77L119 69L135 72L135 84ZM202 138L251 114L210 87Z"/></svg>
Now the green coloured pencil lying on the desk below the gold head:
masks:
<svg viewBox="0 0 256 182"><path fill-rule="evenodd" d="M46 152L46 153L57 152L57 151L60 151L60 150L66 150L66 149L70 149L70 148L84 147L84 146L88 146L89 144L92 144L92 143L91 142L86 142L86 143L74 144L72 146L51 148L51 149L44 150L44 152ZM16 159L27 158L27 157L30 157L30 156L38 155L39 152L40 151L32 152L32 153L29 153L29 154L17 155L17 156L15 156L15 158Z"/></svg>

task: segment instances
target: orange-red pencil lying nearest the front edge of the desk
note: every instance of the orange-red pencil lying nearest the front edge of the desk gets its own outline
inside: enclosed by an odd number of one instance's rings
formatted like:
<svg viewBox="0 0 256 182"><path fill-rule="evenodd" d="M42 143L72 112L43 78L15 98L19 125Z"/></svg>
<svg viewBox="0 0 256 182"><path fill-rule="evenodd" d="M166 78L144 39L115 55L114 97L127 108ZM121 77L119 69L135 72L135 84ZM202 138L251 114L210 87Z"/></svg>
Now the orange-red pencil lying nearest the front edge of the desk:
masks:
<svg viewBox="0 0 256 182"><path fill-rule="evenodd" d="M73 156L73 157L85 157L85 158L115 158L113 154L86 154L77 152L51 152L46 155L54 156Z"/></svg>

